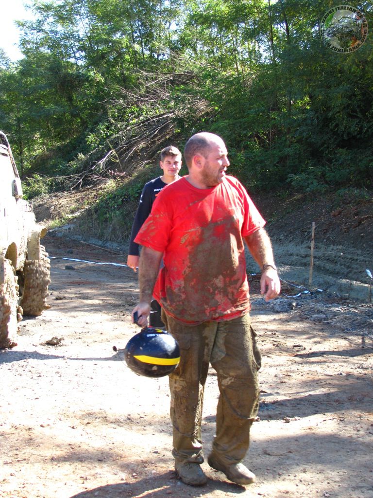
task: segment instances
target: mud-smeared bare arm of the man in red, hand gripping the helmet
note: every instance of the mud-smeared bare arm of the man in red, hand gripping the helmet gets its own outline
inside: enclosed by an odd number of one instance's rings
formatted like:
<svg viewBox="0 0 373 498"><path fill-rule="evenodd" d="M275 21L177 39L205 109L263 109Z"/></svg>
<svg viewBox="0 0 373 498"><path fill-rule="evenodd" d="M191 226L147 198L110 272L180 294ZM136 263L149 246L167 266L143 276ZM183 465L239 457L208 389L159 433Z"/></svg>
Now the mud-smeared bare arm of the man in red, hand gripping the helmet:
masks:
<svg viewBox="0 0 373 498"><path fill-rule="evenodd" d="M153 289L158 277L162 256L163 252L158 250L147 247L141 249L139 264L140 302L133 308L131 313L133 321L133 314L137 311L137 323L141 327L146 327L148 323L150 303L153 299Z"/></svg>

